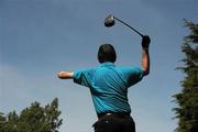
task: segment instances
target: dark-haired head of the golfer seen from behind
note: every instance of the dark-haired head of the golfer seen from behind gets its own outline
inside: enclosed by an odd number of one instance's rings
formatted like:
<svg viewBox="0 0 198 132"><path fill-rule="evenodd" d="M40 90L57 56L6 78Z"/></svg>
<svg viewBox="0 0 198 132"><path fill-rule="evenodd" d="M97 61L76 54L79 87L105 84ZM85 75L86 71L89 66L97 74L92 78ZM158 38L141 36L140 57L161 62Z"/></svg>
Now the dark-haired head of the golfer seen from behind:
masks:
<svg viewBox="0 0 198 132"><path fill-rule="evenodd" d="M98 50L98 62L106 63L111 62L114 63L117 61L117 53L114 47L111 44L102 44Z"/></svg>

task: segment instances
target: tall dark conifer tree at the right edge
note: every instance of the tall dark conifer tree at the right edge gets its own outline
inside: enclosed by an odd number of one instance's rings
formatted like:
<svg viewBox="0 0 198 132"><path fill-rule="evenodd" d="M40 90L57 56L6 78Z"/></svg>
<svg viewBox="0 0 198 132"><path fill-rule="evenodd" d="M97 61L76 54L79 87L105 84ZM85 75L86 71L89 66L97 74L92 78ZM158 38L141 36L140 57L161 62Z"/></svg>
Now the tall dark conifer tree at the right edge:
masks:
<svg viewBox="0 0 198 132"><path fill-rule="evenodd" d="M198 24L185 20L185 26L190 34L184 37L184 66L178 67L185 74L182 91L174 96L178 105L174 109L178 119L176 132L198 132Z"/></svg>

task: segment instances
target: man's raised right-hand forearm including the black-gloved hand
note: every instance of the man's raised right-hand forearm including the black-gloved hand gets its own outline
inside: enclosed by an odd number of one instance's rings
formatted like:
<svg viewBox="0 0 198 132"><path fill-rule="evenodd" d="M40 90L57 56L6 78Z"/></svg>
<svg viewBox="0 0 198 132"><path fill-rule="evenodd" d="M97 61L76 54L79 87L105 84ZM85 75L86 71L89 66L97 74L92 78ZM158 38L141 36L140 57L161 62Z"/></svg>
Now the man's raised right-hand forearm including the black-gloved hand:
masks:
<svg viewBox="0 0 198 132"><path fill-rule="evenodd" d="M144 76L150 74L150 42L148 35L142 37L142 69L144 70Z"/></svg>

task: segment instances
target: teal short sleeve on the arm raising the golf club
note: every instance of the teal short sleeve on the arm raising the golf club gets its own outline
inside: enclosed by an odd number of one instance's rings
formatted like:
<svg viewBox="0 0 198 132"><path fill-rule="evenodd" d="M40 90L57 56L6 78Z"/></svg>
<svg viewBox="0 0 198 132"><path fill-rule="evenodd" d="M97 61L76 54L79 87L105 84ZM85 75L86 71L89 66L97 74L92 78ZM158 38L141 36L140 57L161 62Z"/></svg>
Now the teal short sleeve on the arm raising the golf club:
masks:
<svg viewBox="0 0 198 132"><path fill-rule="evenodd" d="M135 85L144 77L144 70L142 70L140 67L125 67L123 72L128 87Z"/></svg>

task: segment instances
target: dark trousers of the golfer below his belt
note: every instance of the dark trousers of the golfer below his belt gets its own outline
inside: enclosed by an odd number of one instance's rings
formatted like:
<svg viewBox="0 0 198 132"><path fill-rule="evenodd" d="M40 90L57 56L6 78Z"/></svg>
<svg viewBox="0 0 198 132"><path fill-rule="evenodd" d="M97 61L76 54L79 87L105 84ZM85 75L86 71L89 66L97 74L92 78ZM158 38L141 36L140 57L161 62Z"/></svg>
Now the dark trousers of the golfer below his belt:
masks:
<svg viewBox="0 0 198 132"><path fill-rule="evenodd" d="M131 117L102 117L92 127L95 132L135 132L135 123Z"/></svg>

